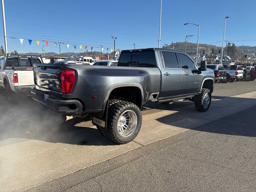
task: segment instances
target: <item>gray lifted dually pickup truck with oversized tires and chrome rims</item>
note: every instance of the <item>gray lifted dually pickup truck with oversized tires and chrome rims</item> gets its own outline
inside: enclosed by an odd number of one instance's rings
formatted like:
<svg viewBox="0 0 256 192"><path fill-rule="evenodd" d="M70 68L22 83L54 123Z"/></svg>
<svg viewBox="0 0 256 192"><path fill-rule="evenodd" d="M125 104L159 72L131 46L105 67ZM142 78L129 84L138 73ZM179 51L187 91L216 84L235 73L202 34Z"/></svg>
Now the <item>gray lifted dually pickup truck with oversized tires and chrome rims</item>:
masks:
<svg viewBox="0 0 256 192"><path fill-rule="evenodd" d="M34 64L34 100L66 118L90 114L99 132L118 144L140 131L147 102L191 100L207 111L214 72L185 53L148 48L123 50L118 66Z"/></svg>

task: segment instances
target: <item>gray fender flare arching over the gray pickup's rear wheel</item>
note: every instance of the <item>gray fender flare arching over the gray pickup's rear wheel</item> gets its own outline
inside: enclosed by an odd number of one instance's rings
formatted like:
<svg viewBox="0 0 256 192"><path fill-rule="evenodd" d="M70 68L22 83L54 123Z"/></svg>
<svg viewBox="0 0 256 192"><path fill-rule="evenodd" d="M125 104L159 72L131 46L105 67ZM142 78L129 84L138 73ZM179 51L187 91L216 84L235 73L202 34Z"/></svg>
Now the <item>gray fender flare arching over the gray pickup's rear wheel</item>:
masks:
<svg viewBox="0 0 256 192"><path fill-rule="evenodd" d="M106 95L105 95L105 98L104 98L104 102L103 102L103 106L102 106L102 114L104 114L104 110L106 108L106 104L108 102L108 98L110 96L110 93L116 89L116 88L120 88L120 87L137 87L140 89L140 92L141 92L141 104L143 103L143 100L144 100L144 91L143 91L143 88L140 84L138 83L118 83L118 84L114 84L112 86L110 86L110 88L108 88L107 92L106 92Z"/></svg>

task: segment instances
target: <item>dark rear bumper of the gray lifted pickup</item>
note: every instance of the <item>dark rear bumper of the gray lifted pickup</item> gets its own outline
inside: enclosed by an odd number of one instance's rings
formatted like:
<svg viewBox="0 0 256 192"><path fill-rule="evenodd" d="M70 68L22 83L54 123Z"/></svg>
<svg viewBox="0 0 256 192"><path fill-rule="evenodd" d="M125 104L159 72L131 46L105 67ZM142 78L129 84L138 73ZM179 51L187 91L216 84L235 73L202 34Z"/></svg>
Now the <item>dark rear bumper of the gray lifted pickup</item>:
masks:
<svg viewBox="0 0 256 192"><path fill-rule="evenodd" d="M55 112L69 115L82 114L83 112L83 106L81 102L76 99L63 100L62 98L45 94L44 92L35 88L31 91L31 93L34 100L44 104Z"/></svg>

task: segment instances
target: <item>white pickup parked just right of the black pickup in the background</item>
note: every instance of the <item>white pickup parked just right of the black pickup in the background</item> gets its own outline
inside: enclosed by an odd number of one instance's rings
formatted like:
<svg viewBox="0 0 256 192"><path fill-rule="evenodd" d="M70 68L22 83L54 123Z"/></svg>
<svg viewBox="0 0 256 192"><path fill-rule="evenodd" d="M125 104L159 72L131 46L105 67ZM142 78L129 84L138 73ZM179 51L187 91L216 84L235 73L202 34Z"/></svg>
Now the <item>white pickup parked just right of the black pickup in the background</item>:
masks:
<svg viewBox="0 0 256 192"><path fill-rule="evenodd" d="M244 75L244 70L241 69L241 66L239 65L230 65L224 66L224 68L230 68L226 69L226 81L228 82L235 82L236 80L241 80ZM225 82L225 80L222 80L222 82Z"/></svg>

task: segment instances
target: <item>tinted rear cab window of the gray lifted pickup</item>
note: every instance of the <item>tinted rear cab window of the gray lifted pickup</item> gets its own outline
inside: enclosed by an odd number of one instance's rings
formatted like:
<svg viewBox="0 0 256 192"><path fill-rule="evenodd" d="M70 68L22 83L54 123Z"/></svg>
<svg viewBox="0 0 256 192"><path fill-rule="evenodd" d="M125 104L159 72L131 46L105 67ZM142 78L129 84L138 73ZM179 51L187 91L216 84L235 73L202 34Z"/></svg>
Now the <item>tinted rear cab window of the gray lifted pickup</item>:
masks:
<svg viewBox="0 0 256 192"><path fill-rule="evenodd" d="M122 52L118 66L124 67L156 67L154 51Z"/></svg>

